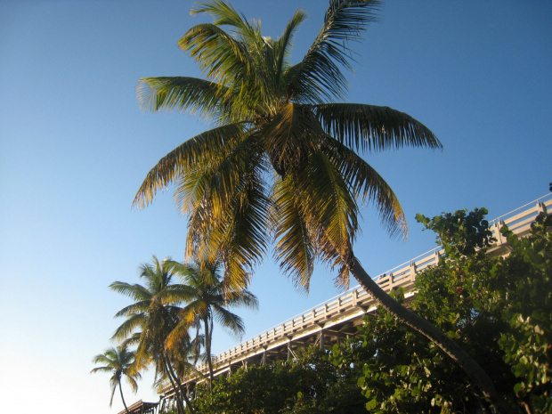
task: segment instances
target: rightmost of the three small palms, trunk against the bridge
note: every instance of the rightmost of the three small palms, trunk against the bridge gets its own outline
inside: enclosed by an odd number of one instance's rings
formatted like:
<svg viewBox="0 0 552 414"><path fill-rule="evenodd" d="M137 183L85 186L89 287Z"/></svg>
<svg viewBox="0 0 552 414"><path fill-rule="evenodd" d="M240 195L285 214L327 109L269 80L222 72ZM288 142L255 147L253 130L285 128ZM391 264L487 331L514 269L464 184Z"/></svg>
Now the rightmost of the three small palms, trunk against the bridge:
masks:
<svg viewBox="0 0 552 414"><path fill-rule="evenodd" d="M210 378L209 386L212 387L214 378L213 361L211 359L213 321L218 321L224 328L230 329L237 336L243 335L245 332L243 321L237 314L231 313L226 308L229 306L247 306L256 309L258 307L257 298L246 289L227 289L223 292L223 282L220 274L222 266L219 263L180 264L172 262L171 265L175 274L182 278L183 285L186 287L186 305L180 312L180 324L184 328L199 322L203 324ZM173 332L177 335L178 329ZM171 339L169 337L169 344Z"/></svg>

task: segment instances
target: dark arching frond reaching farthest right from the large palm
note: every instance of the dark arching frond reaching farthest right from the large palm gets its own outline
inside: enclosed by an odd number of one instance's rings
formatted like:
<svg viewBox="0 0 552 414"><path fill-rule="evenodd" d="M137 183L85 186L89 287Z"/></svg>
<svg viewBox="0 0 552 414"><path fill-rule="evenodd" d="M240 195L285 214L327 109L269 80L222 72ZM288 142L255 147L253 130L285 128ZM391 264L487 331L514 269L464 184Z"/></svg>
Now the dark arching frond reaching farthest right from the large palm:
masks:
<svg viewBox="0 0 552 414"><path fill-rule="evenodd" d="M353 150L379 151L405 146L442 148L429 128L389 107L329 103L313 106L313 112L327 134Z"/></svg>

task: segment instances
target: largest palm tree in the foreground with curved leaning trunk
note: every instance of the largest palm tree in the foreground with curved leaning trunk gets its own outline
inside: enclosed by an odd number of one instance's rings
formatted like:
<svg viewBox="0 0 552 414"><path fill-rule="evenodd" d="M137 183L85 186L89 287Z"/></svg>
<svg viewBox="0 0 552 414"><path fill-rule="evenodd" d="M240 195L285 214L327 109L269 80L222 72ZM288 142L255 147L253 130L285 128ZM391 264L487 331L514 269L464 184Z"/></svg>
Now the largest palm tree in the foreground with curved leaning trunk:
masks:
<svg viewBox="0 0 552 414"><path fill-rule="evenodd" d="M361 154L442 147L426 126L398 110L337 102L347 86L342 69L351 69L349 45L377 20L378 5L330 0L320 33L293 65L289 53L305 19L301 10L273 40L261 35L260 21L247 20L223 0L196 5L192 13L210 13L214 22L192 27L178 45L207 79L142 78L138 97L144 109L191 111L214 127L161 158L134 206L147 206L175 183L176 205L189 217L186 255L222 260L224 289L247 287L272 241L281 269L299 288L309 288L317 259L338 267L337 285L347 286L353 274L389 312L459 363L491 402L503 405L475 360L379 288L353 253L359 200L375 204L392 235L407 231L394 192Z"/></svg>

